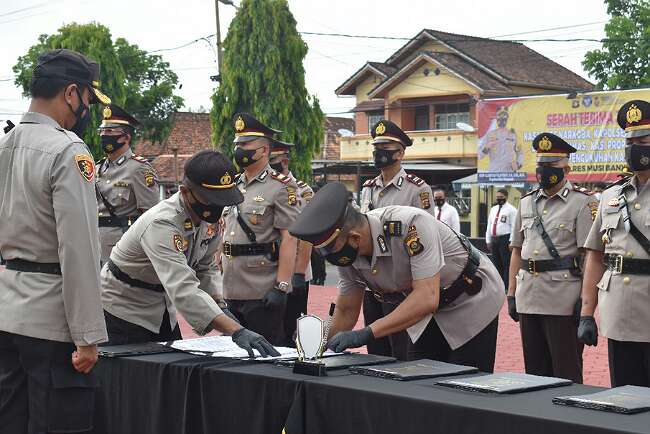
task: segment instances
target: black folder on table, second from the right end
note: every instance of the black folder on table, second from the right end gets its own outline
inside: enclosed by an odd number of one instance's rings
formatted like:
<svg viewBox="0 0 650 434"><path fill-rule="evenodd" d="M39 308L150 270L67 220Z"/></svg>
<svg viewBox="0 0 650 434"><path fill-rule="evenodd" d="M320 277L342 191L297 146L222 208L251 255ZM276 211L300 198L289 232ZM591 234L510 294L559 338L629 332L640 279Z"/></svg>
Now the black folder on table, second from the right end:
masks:
<svg viewBox="0 0 650 434"><path fill-rule="evenodd" d="M440 386L454 387L472 392L519 393L550 387L568 386L571 380L555 377L502 372L470 378L458 378L437 381Z"/></svg>

